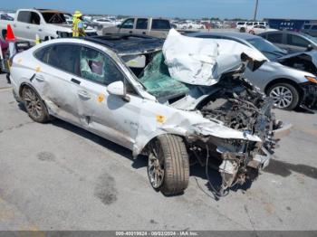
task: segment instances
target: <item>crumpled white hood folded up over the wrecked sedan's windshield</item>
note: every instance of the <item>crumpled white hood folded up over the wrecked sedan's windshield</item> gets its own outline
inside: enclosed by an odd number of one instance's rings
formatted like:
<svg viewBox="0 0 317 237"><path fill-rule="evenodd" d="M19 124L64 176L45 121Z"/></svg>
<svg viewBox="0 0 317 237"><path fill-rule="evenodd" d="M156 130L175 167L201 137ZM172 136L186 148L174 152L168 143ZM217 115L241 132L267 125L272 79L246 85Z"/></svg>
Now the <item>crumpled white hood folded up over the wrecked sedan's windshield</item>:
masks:
<svg viewBox="0 0 317 237"><path fill-rule="evenodd" d="M242 43L187 37L174 29L168 33L163 53L172 78L203 86L216 84L222 73L239 67L242 53L256 61L266 60Z"/></svg>

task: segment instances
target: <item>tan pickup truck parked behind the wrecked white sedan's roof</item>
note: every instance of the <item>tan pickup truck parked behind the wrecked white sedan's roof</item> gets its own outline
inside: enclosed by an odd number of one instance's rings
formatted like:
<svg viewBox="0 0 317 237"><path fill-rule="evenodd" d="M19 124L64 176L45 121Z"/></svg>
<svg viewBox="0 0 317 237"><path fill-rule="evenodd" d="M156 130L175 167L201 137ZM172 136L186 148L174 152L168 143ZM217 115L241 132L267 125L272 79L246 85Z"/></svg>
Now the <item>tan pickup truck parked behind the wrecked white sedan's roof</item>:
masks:
<svg viewBox="0 0 317 237"><path fill-rule="evenodd" d="M166 38L171 29L168 19L152 17L130 17L112 27L102 29L102 35L112 33L143 34L158 38Z"/></svg>

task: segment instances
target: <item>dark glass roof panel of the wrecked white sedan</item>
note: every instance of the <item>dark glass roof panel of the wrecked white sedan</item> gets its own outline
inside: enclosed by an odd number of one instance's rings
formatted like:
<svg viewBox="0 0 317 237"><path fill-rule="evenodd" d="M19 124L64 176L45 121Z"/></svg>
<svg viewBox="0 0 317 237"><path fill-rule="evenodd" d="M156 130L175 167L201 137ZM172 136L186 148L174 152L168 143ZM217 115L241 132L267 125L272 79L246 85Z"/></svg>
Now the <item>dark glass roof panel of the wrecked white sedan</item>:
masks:
<svg viewBox="0 0 317 237"><path fill-rule="evenodd" d="M83 37L82 39L110 47L121 54L153 51L154 49L160 49L164 43L162 39L137 34L110 34Z"/></svg>

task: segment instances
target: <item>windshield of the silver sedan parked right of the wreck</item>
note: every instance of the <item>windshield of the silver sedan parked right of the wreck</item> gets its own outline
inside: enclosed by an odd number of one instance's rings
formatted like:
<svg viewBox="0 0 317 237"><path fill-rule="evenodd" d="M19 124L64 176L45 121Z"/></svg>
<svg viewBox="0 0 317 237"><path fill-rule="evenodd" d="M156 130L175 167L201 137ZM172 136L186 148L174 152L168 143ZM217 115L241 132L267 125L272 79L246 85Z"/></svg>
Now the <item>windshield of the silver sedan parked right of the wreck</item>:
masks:
<svg viewBox="0 0 317 237"><path fill-rule="evenodd" d="M248 43L251 43L257 50L262 52L269 60L275 60L287 54L286 52L283 52L280 48L275 46L273 43L269 43L263 38L252 38L246 41Z"/></svg>

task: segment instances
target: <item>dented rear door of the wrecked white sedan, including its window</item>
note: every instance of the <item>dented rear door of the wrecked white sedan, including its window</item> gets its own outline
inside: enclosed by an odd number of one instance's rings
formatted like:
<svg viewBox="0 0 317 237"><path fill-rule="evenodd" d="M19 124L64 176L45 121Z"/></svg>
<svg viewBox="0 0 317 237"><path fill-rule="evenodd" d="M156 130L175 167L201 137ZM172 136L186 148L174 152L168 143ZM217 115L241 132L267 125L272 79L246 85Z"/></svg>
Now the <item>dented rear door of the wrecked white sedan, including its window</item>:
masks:
<svg viewBox="0 0 317 237"><path fill-rule="evenodd" d="M34 81L54 116L81 126L79 119L79 81L81 47L72 43L53 43L34 52L43 63L36 68Z"/></svg>

